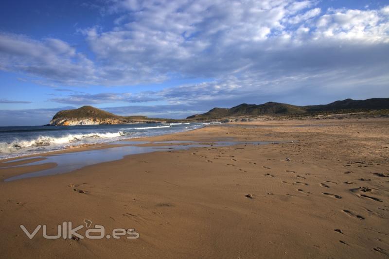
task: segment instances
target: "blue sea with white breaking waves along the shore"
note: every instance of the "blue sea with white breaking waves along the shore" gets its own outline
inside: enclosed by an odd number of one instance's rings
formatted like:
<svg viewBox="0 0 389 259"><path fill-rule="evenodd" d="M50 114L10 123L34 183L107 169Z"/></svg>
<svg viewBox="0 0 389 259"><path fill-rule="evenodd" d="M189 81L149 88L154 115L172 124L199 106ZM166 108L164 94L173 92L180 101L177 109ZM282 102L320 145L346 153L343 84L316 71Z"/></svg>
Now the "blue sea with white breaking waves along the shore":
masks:
<svg viewBox="0 0 389 259"><path fill-rule="evenodd" d="M217 123L217 122L215 122ZM0 127L0 159L194 130L211 123L137 123Z"/></svg>

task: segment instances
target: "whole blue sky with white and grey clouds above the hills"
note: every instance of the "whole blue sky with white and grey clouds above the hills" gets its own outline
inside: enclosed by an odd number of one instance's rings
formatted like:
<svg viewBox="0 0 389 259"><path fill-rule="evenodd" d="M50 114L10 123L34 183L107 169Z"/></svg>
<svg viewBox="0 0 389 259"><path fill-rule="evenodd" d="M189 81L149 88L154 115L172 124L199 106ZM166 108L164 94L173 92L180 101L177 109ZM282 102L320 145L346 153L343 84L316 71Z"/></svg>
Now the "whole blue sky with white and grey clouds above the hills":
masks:
<svg viewBox="0 0 389 259"><path fill-rule="evenodd" d="M389 97L389 0L4 0L0 126Z"/></svg>

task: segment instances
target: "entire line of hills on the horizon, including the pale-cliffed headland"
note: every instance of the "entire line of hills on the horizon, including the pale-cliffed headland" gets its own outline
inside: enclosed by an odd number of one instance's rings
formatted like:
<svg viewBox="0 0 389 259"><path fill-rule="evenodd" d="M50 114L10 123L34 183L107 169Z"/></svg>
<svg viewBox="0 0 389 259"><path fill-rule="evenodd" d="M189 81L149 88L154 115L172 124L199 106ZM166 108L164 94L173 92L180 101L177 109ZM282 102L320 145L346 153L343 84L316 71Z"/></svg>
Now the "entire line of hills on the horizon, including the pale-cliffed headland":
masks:
<svg viewBox="0 0 389 259"><path fill-rule="evenodd" d="M389 110L389 98L371 98L367 100L345 99L330 104L298 106L276 102L265 104L239 104L231 108L214 107L206 113L195 114L182 120L148 118L146 116L119 116L95 108L82 106L77 109L57 112L48 125L96 125L96 124L130 124L130 123L163 123L180 121L210 121L224 118L250 116L306 116L316 113L336 113L355 110Z"/></svg>

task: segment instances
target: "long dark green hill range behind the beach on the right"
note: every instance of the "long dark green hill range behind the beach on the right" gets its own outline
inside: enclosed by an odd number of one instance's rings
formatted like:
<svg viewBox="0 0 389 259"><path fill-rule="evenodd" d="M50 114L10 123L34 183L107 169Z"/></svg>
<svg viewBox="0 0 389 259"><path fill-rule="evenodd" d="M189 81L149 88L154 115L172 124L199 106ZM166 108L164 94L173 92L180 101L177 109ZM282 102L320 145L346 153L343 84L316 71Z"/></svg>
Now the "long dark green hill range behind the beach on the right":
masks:
<svg viewBox="0 0 389 259"><path fill-rule="evenodd" d="M310 114L318 112L335 113L338 111L389 109L389 98L372 98L367 100L346 99L331 104L296 106L268 102L265 104L240 104L232 108L213 108L203 114L187 117L188 120L212 120L226 117Z"/></svg>

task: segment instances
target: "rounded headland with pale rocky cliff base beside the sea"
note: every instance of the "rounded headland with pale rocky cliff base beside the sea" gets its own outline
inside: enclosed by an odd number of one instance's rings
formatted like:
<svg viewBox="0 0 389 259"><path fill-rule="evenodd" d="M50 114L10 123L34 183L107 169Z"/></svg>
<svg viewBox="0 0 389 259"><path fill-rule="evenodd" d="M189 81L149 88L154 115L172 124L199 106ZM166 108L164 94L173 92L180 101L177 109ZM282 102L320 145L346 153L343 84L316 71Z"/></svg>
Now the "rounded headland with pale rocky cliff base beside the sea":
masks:
<svg viewBox="0 0 389 259"><path fill-rule="evenodd" d="M145 116L118 116L92 106L57 112L49 122L51 126L162 123L164 119L151 119Z"/></svg>

